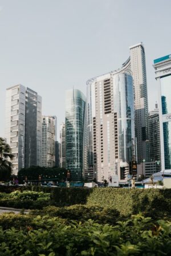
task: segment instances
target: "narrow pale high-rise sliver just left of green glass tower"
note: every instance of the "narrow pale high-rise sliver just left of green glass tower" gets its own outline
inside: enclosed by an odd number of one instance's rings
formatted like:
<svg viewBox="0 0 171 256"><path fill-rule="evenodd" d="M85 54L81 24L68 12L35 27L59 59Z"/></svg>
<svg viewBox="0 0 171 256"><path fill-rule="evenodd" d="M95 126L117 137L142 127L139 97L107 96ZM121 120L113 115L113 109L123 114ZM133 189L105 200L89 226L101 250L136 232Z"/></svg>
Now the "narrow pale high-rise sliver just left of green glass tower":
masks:
<svg viewBox="0 0 171 256"><path fill-rule="evenodd" d="M66 125L64 123L60 124L60 168L67 168L66 166Z"/></svg>

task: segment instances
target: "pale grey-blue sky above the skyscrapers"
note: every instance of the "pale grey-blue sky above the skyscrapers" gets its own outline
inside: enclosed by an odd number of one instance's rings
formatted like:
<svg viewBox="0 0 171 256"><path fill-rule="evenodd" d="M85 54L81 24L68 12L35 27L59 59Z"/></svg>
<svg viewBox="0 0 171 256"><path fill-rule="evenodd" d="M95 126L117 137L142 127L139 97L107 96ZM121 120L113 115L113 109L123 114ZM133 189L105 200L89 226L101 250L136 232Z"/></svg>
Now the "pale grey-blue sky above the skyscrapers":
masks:
<svg viewBox="0 0 171 256"><path fill-rule="evenodd" d="M143 42L149 110L157 100L153 59L171 54L170 0L0 0L0 137L6 88L42 96L42 115L65 119L65 91L116 70Z"/></svg>

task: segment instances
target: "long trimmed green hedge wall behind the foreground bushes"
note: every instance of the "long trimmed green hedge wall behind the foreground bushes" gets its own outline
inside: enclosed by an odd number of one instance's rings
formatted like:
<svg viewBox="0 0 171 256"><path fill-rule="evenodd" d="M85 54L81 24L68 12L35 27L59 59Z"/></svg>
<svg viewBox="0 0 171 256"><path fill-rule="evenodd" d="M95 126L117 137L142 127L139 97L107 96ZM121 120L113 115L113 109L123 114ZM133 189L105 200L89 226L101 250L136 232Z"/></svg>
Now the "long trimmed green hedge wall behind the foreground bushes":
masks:
<svg viewBox="0 0 171 256"><path fill-rule="evenodd" d="M49 204L55 206L87 205L112 208L121 216L143 212L153 218L171 216L171 189L121 188L51 188L26 187L36 192L51 193ZM23 188L22 189L26 189ZM0 205L2 206L1 202ZM27 209L26 207L23 207ZM34 208L35 209L35 208Z"/></svg>

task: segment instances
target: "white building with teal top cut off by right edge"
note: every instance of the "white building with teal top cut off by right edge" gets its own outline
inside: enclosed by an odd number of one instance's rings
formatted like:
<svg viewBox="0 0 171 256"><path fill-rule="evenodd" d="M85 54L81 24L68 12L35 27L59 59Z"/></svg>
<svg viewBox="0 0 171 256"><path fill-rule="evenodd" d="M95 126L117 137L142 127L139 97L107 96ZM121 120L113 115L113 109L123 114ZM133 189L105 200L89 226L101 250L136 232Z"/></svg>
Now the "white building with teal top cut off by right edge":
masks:
<svg viewBox="0 0 171 256"><path fill-rule="evenodd" d="M154 60L160 120L161 170L171 169L171 55Z"/></svg>

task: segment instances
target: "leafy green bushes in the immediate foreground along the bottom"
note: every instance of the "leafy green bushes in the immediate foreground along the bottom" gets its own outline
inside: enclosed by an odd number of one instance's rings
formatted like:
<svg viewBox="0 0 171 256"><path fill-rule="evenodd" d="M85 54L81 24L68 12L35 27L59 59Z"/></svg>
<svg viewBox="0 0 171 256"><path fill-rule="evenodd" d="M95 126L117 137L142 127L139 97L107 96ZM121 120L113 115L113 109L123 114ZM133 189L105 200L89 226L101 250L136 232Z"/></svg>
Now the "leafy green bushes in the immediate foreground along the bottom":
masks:
<svg viewBox="0 0 171 256"><path fill-rule="evenodd" d="M170 255L171 251L171 223L153 222L141 214L115 226L97 224L92 220L66 224L59 218L48 216L31 220L30 216L9 215L18 226L0 229L2 256L160 256ZM13 226L10 221L8 214L3 220L0 217L2 227L7 222Z"/></svg>

